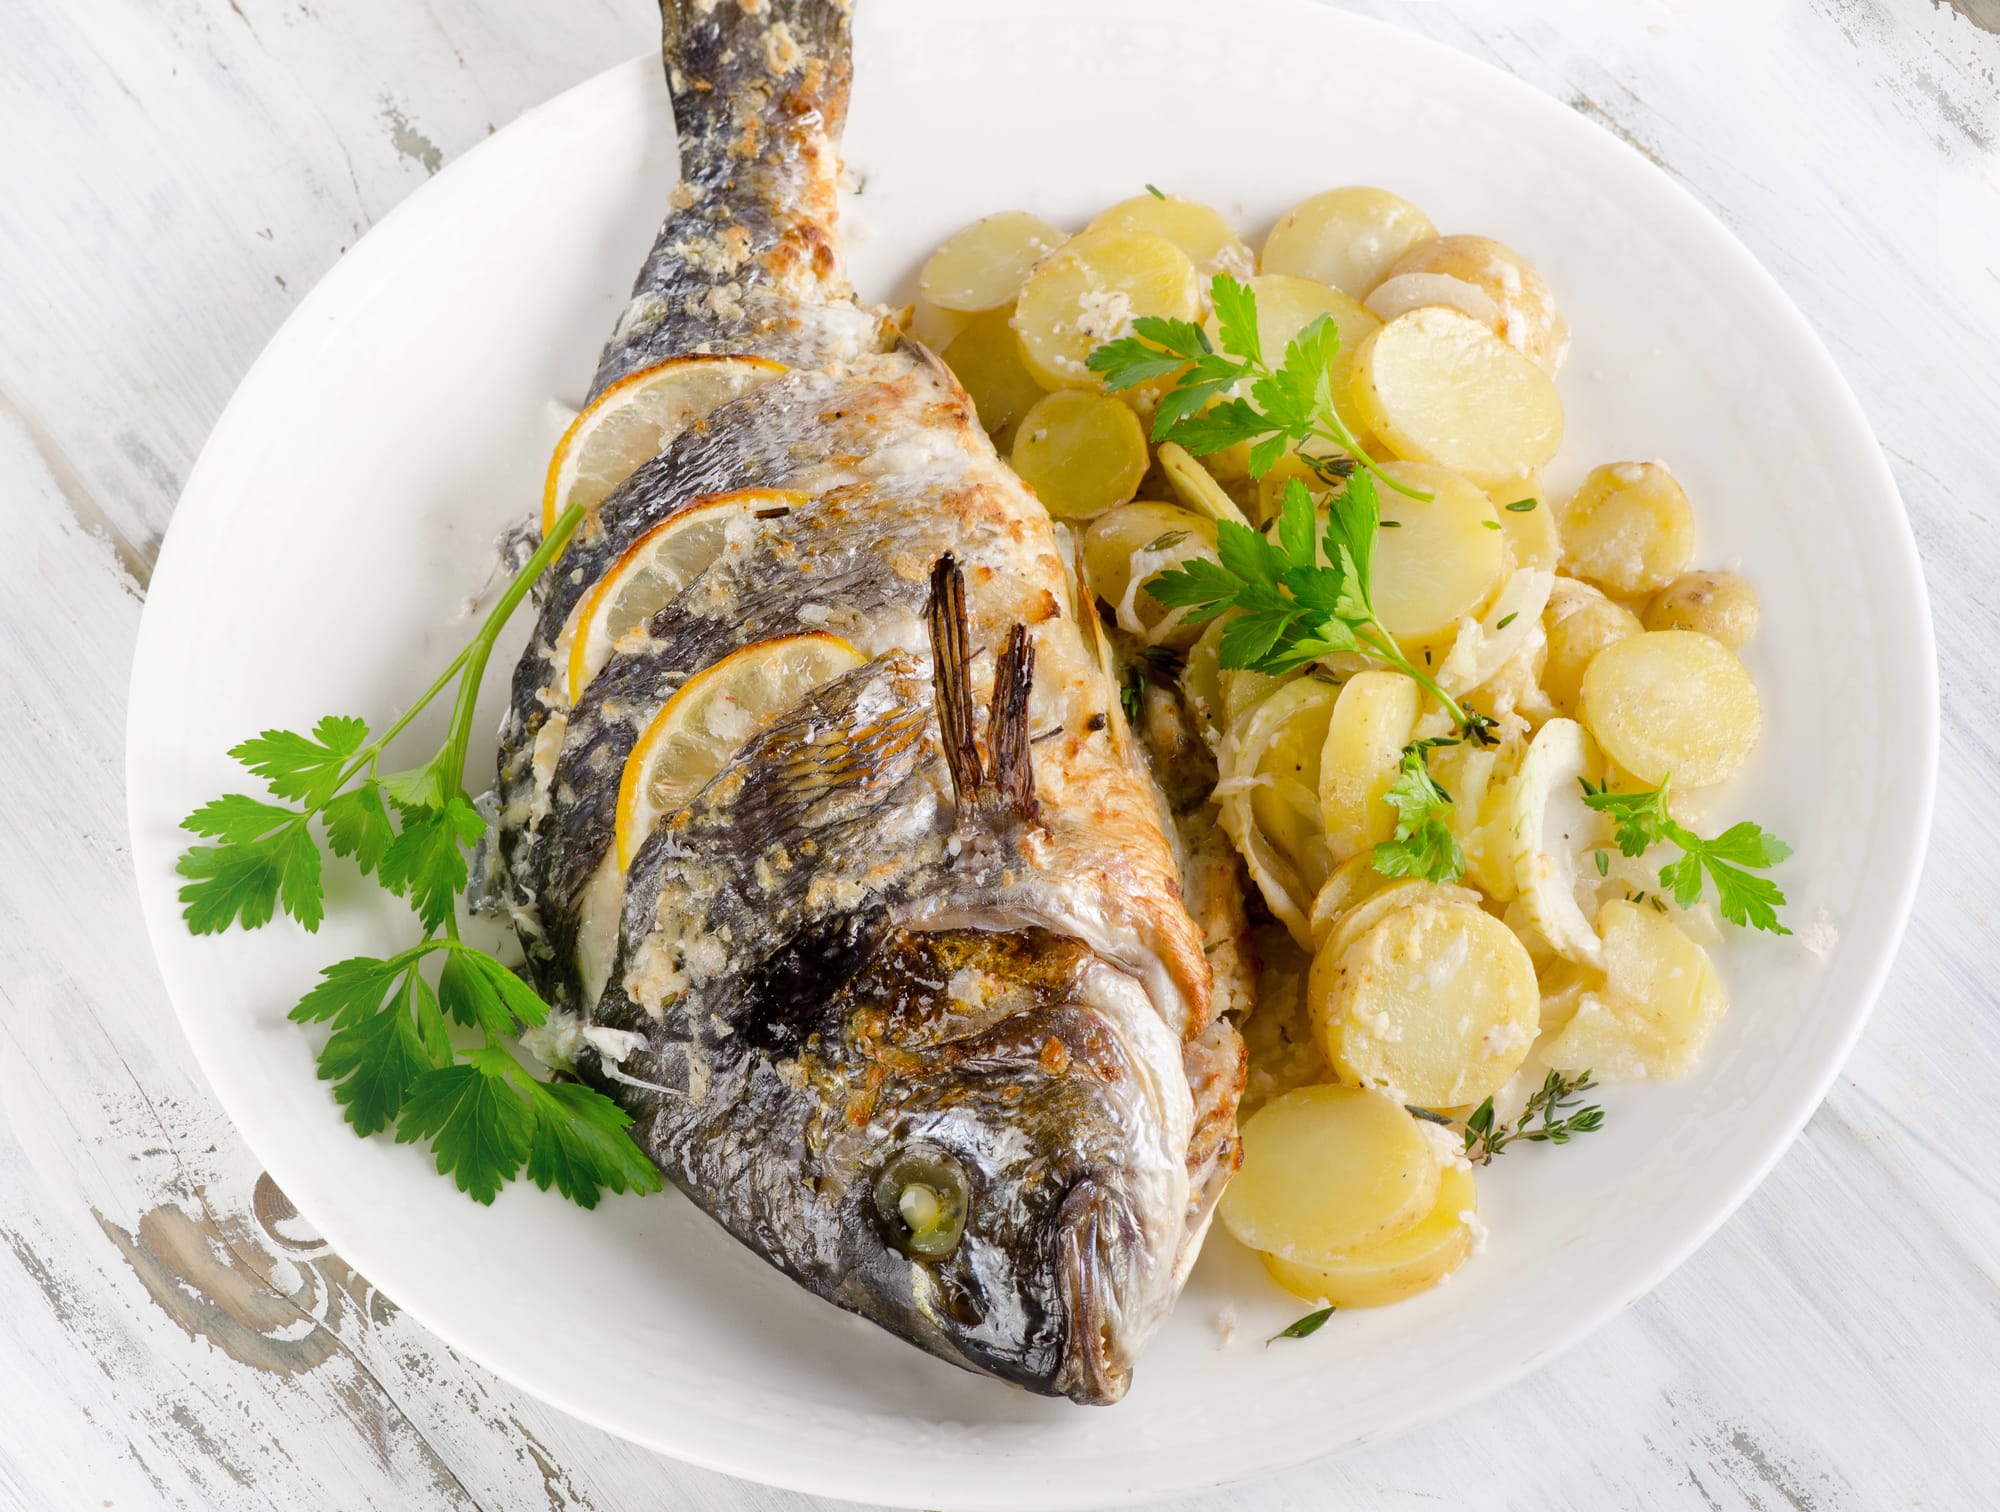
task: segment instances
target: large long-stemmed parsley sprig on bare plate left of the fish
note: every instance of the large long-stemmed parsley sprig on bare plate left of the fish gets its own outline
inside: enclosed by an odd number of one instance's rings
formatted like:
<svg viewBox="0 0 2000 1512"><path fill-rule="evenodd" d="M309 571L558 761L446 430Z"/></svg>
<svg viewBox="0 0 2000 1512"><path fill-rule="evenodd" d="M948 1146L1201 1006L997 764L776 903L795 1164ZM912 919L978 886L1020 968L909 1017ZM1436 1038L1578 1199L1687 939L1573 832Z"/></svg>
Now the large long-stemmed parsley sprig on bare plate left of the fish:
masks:
<svg viewBox="0 0 2000 1512"><path fill-rule="evenodd" d="M394 1126L398 1142L428 1140L438 1172L478 1202L492 1202L522 1170L584 1208L606 1190L660 1190L660 1172L628 1136L632 1120L616 1102L588 1086L540 1082L506 1048L524 1024L546 1022L548 1004L458 934L466 850L486 834L464 786L480 680L508 616L582 516L582 506L564 512L478 634L380 736L342 714L310 734L266 730L230 756L264 778L270 798L232 792L182 820L214 842L190 846L178 864L188 878L182 916L194 934L254 930L278 910L318 930L326 918L322 840L408 900L424 928L414 946L324 968L290 1016L332 1026L320 1078L334 1084L356 1134ZM456 696L438 754L384 770L388 748L446 688ZM476 1030L480 1044L454 1046L450 1024Z"/></svg>

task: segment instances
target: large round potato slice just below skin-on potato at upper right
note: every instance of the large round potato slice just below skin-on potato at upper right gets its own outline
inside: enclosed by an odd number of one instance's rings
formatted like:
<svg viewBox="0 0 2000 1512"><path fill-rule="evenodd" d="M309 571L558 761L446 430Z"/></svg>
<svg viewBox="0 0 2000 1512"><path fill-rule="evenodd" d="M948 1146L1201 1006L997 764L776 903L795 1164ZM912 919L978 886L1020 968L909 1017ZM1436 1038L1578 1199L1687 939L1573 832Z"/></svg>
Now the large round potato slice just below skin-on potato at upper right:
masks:
<svg viewBox="0 0 2000 1512"><path fill-rule="evenodd" d="M1534 362L1456 310L1412 310L1370 336L1354 406L1396 456L1482 488L1538 472L1562 446L1562 396Z"/></svg>

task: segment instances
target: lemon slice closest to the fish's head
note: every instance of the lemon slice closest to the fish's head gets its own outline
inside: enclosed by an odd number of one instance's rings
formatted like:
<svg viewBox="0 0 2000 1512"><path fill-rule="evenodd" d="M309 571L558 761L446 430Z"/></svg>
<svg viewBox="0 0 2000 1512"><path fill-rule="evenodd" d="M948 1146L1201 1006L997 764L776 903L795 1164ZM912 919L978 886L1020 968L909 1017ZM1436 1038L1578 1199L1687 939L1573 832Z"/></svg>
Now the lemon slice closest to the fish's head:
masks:
<svg viewBox="0 0 2000 1512"><path fill-rule="evenodd" d="M618 868L628 868L658 818L700 792L766 720L866 660L840 636L778 636L688 678L626 758Z"/></svg>

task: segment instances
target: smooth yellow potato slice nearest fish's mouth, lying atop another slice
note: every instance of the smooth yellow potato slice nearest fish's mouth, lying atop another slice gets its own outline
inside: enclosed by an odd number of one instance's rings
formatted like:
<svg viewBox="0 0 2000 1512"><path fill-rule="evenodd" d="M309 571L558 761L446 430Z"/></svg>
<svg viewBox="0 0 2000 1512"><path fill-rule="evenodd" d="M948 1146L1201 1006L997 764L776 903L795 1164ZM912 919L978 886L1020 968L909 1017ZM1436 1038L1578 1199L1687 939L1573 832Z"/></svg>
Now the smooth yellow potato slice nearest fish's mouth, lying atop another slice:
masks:
<svg viewBox="0 0 2000 1512"><path fill-rule="evenodd" d="M1430 1140L1380 1092L1302 1086L1244 1120L1242 1142L1222 1226L1280 1260L1324 1264L1408 1232L1438 1206Z"/></svg>

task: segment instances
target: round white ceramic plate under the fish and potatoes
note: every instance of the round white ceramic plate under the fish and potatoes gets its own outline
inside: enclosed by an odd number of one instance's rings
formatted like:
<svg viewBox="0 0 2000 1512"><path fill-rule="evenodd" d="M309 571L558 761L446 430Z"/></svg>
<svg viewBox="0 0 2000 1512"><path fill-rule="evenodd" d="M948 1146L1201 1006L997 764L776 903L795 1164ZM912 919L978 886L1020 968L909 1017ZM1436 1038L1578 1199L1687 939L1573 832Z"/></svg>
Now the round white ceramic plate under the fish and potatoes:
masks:
<svg viewBox="0 0 2000 1512"><path fill-rule="evenodd" d="M1608 1092L1602 1134L1482 1174L1488 1252L1416 1302L1266 1352L1300 1306L1216 1238L1110 1410L938 1364L792 1288L676 1196L584 1214L518 1186L486 1210L420 1150L352 1138L314 1080L316 1036L284 1012L320 964L402 942L408 914L354 884L338 890L356 906L316 938L280 924L192 940L174 824L244 786L224 758L242 736L334 710L380 720L464 640L488 544L538 498L548 400L580 398L674 182L666 90L640 60L466 154L348 252L188 482L128 752L140 886L186 1034L278 1184L396 1302L538 1396L734 1474L910 1506L1104 1504L1490 1392L1742 1202L1890 966L1928 832L1936 686L1916 552L1868 424L1778 286L1686 192L1430 42L1280 0L862 0L856 58L848 246L868 296L904 292L974 216L1080 224L1146 182L1216 202L1252 240L1304 194L1386 184L1538 260L1576 330L1550 484L1670 458L1702 560L1762 588L1750 664L1768 730L1734 808L1796 844L1792 918L1824 910L1834 954L1728 946L1736 1010L1700 1072ZM1160 106L1168 78L1198 80L1200 110ZM482 728L504 684L488 678Z"/></svg>

